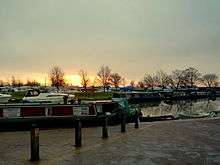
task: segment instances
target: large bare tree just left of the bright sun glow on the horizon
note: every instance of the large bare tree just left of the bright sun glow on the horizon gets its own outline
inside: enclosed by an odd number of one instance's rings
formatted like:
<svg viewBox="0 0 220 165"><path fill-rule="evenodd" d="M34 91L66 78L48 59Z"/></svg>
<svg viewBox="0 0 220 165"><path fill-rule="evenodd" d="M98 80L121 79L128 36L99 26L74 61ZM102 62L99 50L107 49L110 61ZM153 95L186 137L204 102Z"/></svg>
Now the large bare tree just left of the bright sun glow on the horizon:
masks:
<svg viewBox="0 0 220 165"><path fill-rule="evenodd" d="M64 72L59 66L54 66L50 69L49 77L51 81L51 85L55 86L57 89L59 87L65 85L65 80L64 80Z"/></svg>

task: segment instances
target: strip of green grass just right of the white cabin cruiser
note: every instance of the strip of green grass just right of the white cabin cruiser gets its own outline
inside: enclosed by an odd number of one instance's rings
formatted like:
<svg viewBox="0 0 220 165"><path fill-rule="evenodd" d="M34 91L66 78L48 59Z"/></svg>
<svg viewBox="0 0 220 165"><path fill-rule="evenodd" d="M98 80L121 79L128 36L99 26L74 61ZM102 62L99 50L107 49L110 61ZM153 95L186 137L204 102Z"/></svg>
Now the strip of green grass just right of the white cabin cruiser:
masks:
<svg viewBox="0 0 220 165"><path fill-rule="evenodd" d="M75 93L76 99L81 100L109 100L112 99L111 92L78 92Z"/></svg>

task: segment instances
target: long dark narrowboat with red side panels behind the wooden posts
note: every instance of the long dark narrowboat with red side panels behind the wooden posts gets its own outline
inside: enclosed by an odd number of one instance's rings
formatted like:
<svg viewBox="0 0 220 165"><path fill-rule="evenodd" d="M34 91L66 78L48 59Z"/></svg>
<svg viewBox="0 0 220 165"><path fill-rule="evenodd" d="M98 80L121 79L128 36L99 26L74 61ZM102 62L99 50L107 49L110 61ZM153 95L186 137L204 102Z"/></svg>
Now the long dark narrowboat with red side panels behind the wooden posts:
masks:
<svg viewBox="0 0 220 165"><path fill-rule="evenodd" d="M120 122L120 111L115 102L86 104L2 104L0 131L29 129L32 123L39 127L73 127L76 118L83 126L100 125L103 115L110 114L110 123Z"/></svg>

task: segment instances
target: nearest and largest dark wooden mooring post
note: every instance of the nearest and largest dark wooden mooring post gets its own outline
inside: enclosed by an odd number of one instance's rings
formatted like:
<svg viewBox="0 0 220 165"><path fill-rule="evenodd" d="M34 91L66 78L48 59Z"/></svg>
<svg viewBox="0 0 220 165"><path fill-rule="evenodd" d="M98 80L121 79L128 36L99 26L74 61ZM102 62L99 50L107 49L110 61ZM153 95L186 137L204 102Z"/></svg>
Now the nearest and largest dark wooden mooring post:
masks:
<svg viewBox="0 0 220 165"><path fill-rule="evenodd" d="M39 160L39 128L36 124L31 125L31 161Z"/></svg>

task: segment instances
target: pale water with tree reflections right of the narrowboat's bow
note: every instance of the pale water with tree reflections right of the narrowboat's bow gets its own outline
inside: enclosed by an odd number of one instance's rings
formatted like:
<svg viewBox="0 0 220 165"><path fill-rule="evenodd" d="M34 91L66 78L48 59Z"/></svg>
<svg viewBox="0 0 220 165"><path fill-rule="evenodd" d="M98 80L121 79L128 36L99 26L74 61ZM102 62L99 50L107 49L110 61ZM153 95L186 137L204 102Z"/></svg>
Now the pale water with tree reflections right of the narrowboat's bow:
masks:
<svg viewBox="0 0 220 165"><path fill-rule="evenodd" d="M216 100L179 100L172 102L158 102L139 104L143 116L155 117L173 115L178 117L181 113L220 112L220 98Z"/></svg>

